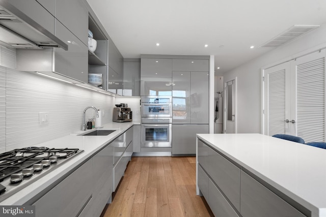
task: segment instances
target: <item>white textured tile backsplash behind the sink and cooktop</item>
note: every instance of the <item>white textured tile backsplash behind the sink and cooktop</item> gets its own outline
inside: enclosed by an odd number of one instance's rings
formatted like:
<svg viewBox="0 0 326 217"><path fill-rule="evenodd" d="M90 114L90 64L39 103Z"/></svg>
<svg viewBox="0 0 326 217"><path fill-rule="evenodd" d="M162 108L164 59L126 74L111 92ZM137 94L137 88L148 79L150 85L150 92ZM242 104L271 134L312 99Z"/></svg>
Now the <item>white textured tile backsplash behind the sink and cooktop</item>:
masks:
<svg viewBox="0 0 326 217"><path fill-rule="evenodd" d="M104 110L103 124L112 122L114 105L115 97L0 66L0 152L80 130L88 106ZM47 126L39 125L39 112L49 112Z"/></svg>

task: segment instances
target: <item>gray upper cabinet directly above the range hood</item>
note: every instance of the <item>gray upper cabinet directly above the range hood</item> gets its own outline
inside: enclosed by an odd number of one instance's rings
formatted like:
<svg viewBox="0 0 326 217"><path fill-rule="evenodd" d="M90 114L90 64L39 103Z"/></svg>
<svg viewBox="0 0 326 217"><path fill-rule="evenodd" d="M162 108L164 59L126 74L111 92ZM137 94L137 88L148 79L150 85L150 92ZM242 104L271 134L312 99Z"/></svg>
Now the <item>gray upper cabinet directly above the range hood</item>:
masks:
<svg viewBox="0 0 326 217"><path fill-rule="evenodd" d="M11 0L10 4L36 21L50 33L55 33L55 17L35 0Z"/></svg>

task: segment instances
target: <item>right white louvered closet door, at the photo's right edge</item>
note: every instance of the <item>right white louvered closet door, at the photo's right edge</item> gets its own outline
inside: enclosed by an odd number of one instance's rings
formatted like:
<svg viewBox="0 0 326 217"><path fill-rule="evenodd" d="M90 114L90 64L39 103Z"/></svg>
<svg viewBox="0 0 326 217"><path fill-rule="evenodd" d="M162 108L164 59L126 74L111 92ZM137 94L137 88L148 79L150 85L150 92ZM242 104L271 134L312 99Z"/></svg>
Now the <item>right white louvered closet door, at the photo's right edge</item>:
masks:
<svg viewBox="0 0 326 217"><path fill-rule="evenodd" d="M296 108L291 109L291 127L305 142L325 141L325 50L297 58L292 72Z"/></svg>

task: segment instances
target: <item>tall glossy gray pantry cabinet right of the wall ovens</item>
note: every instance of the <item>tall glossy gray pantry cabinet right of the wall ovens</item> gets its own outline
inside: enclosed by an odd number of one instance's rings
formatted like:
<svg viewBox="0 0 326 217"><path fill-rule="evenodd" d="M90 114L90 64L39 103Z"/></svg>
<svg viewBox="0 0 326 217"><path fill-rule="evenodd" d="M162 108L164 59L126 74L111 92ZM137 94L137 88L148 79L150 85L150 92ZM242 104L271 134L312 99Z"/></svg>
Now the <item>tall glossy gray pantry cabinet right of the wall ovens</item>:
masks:
<svg viewBox="0 0 326 217"><path fill-rule="evenodd" d="M196 134L209 133L209 60L173 59L172 154L196 154Z"/></svg>

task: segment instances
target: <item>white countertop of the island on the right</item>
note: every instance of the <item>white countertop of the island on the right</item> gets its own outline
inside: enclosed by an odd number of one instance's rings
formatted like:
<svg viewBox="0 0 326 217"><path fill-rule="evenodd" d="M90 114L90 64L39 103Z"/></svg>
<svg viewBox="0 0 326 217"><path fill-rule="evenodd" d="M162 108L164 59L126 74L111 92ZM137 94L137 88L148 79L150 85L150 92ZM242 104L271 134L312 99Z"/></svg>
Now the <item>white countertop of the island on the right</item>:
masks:
<svg viewBox="0 0 326 217"><path fill-rule="evenodd" d="M261 134L197 134L288 197L326 216L326 149Z"/></svg>

